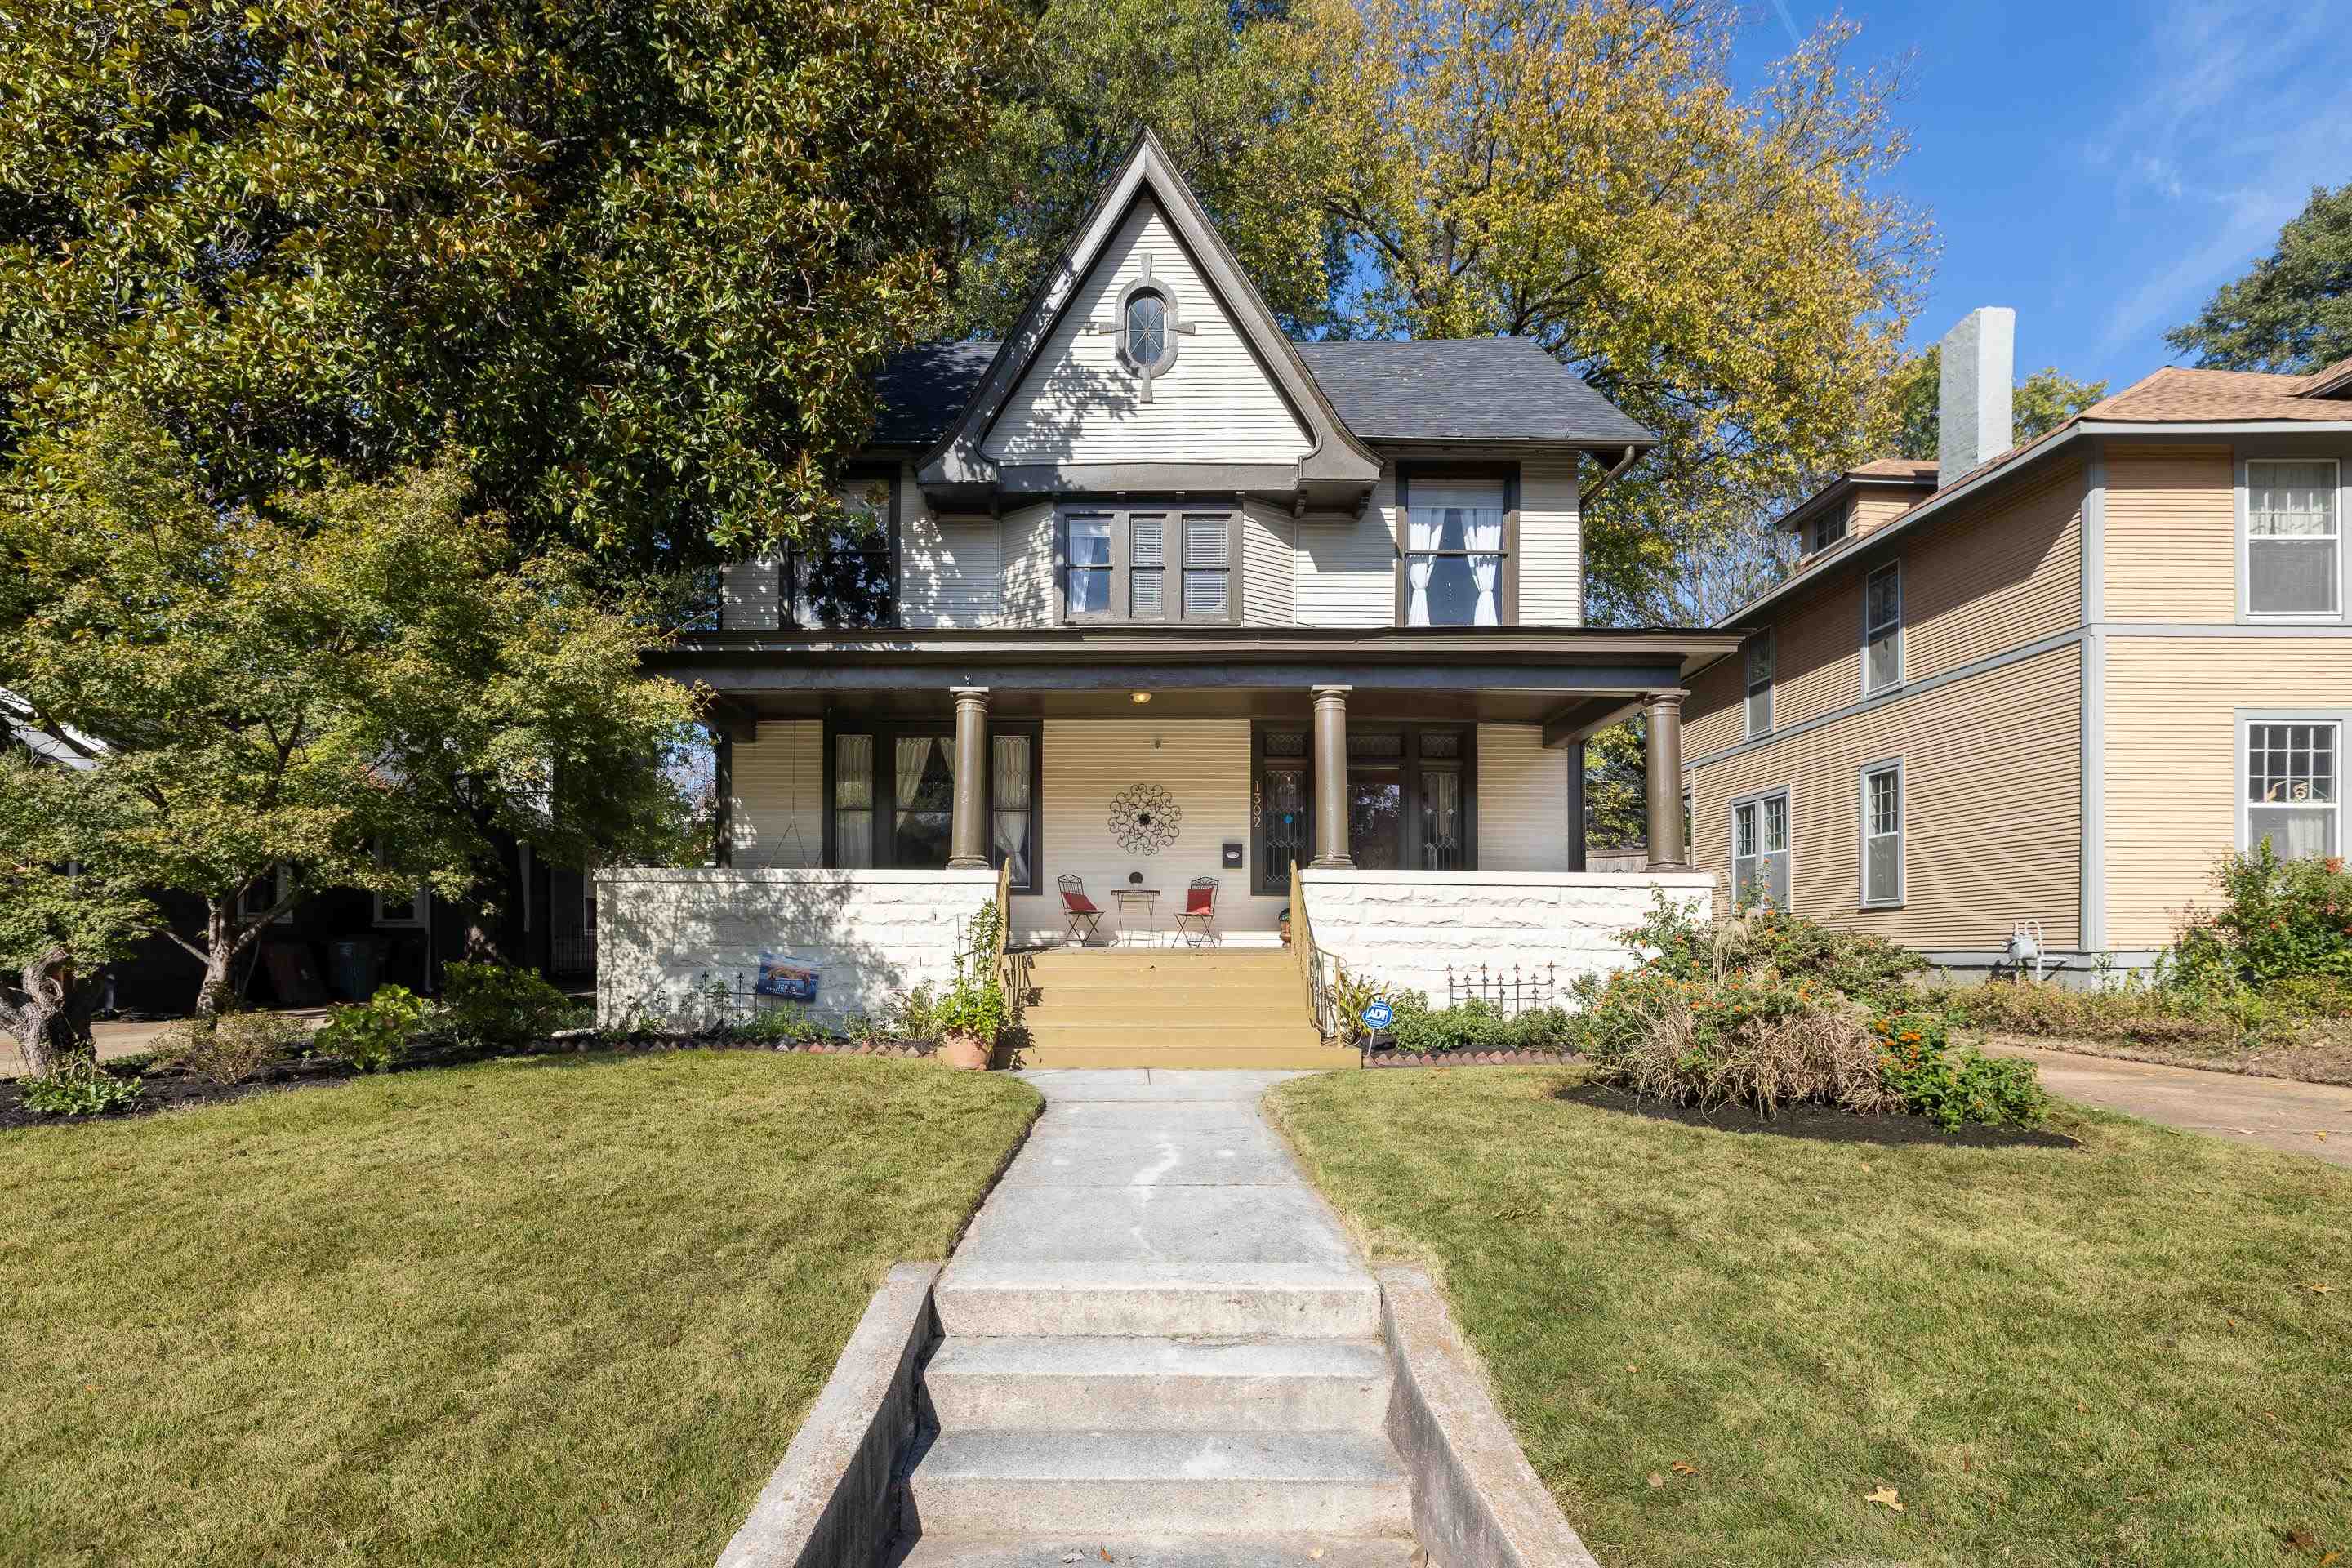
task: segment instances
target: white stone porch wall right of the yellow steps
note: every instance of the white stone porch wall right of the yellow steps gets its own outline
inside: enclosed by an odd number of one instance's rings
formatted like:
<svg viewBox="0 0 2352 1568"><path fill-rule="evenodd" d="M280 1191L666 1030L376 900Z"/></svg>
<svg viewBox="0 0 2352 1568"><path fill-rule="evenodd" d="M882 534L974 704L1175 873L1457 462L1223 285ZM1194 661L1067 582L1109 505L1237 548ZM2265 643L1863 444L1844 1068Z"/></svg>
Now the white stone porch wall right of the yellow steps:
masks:
<svg viewBox="0 0 2352 1568"><path fill-rule="evenodd" d="M1623 931L1653 893L1705 912L1705 872L1303 872L1315 947L1388 990L1446 1004L1446 964L1581 973L1632 964Z"/></svg>

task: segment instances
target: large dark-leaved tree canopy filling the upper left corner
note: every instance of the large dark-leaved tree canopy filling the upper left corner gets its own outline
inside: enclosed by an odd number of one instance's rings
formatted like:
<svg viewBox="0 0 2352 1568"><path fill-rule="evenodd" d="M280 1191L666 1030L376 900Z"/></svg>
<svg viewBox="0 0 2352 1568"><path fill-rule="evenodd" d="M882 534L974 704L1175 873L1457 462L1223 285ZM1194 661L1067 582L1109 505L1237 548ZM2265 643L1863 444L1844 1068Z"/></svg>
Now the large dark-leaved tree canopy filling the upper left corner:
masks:
<svg viewBox="0 0 2352 1568"><path fill-rule="evenodd" d="M529 538L788 536L938 303L995 0L35 0L0 414L136 404L207 505L461 454Z"/></svg>

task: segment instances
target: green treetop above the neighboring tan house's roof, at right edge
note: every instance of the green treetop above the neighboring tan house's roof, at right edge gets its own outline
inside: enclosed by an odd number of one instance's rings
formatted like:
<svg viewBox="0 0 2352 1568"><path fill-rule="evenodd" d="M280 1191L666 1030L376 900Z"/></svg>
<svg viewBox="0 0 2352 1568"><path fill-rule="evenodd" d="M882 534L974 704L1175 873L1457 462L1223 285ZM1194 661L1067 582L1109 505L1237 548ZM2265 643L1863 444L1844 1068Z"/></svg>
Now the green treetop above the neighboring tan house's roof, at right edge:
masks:
<svg viewBox="0 0 2352 1568"><path fill-rule="evenodd" d="M2352 357L2352 183L2312 186L2279 244L2164 341L2204 369L2300 374Z"/></svg>

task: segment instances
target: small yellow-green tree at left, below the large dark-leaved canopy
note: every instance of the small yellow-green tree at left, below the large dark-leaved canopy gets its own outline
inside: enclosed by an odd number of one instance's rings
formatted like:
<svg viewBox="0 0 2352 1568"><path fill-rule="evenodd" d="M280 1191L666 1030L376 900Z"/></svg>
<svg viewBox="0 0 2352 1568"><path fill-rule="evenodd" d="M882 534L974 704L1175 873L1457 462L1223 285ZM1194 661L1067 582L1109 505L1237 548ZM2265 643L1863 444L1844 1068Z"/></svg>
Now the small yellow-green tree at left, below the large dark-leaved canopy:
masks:
<svg viewBox="0 0 2352 1568"><path fill-rule="evenodd" d="M200 1009L325 886L496 910L499 835L572 865L680 851L694 698L640 677L649 599L522 555L454 468L223 505L136 416L28 458L0 503L0 717L82 764L42 790L66 858L202 898L169 931Z"/></svg>

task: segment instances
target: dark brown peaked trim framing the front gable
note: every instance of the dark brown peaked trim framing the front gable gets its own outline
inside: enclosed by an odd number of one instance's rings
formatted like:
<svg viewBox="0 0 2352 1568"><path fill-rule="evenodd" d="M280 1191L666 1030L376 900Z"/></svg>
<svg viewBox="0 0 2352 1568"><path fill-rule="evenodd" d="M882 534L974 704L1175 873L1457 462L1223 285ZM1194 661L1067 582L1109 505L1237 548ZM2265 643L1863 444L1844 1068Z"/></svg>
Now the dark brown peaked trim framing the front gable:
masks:
<svg viewBox="0 0 2352 1568"><path fill-rule="evenodd" d="M1030 362L1044 348L1047 339L1051 339L1054 327L1070 306L1070 296L1101 259L1105 244L1110 244L1129 207L1145 193L1160 202L1160 212L1176 230L1176 237L1197 259L1209 284L1242 329L1242 336L1289 400L1298 423L1305 425L1310 449L1298 461L1298 480L1303 484L1359 487L1378 480L1381 458L1348 430L1331 400L1315 383L1315 376L1308 374L1305 362L1298 357L1298 346L1282 336L1272 310L1265 308L1265 301L1251 287L1232 252L1225 249L1225 240L1216 233L1209 214L1202 212L1192 188L1176 172L1167 148L1160 146L1160 136L1152 132L1136 136L1134 148L1129 148L1120 169L1103 186L1094 212L1080 223L1077 235L1063 249L1061 259L1047 268L1047 275L1037 282L1037 292L1030 294L1028 306L1021 310L1021 320L990 357L971 397L924 454L917 465L917 480L927 487L967 489L985 489L995 482L997 463L981 449L988 428L1004 411L1007 397L1021 386Z"/></svg>

